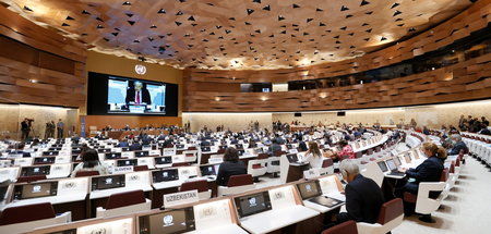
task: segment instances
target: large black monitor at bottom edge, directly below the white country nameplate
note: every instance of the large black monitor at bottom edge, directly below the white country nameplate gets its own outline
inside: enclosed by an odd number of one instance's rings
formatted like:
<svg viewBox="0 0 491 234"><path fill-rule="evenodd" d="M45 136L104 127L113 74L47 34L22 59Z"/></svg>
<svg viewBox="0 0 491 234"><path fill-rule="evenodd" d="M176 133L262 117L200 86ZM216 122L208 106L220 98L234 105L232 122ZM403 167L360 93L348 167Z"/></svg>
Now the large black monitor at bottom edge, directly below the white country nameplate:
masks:
<svg viewBox="0 0 491 234"><path fill-rule="evenodd" d="M176 234L195 230L192 207L139 217L139 234Z"/></svg>

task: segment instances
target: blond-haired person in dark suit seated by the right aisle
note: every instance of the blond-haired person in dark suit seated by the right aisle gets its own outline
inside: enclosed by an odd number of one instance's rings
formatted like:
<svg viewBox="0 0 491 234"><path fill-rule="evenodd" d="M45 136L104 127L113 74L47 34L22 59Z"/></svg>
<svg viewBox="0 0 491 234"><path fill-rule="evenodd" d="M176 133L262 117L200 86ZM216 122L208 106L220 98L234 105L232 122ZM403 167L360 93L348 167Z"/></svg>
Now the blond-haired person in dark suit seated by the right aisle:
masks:
<svg viewBox="0 0 491 234"><path fill-rule="evenodd" d="M423 143L422 151L428 157L416 169L406 170L406 175L409 180L403 187L396 188L395 195L403 197L404 192L409 192L417 195L420 182L439 182L443 171L443 162L446 159L446 151L443 147L438 147L434 143ZM404 171L404 170L403 170ZM430 192L430 197L438 197L439 192ZM414 212L409 205L405 204L405 213Z"/></svg>

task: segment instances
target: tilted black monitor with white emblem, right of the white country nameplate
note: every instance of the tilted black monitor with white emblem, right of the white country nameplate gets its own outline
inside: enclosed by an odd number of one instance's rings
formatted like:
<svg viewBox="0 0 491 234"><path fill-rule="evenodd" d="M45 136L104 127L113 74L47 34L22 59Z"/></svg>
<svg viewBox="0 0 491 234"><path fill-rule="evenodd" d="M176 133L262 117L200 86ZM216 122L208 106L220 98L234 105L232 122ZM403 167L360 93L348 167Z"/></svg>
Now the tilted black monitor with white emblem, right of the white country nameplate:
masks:
<svg viewBox="0 0 491 234"><path fill-rule="evenodd" d="M261 192L258 194L236 197L235 199L237 212L240 218L261 213L272 209L270 193Z"/></svg>

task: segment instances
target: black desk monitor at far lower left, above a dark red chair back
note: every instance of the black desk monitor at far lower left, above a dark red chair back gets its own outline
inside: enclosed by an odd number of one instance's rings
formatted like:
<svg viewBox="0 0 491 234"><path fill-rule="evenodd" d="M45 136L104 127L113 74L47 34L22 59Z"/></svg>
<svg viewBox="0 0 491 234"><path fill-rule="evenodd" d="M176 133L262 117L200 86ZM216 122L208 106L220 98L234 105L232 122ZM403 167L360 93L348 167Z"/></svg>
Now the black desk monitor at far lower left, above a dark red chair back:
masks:
<svg viewBox="0 0 491 234"><path fill-rule="evenodd" d="M57 196L58 182L15 185L14 199Z"/></svg>

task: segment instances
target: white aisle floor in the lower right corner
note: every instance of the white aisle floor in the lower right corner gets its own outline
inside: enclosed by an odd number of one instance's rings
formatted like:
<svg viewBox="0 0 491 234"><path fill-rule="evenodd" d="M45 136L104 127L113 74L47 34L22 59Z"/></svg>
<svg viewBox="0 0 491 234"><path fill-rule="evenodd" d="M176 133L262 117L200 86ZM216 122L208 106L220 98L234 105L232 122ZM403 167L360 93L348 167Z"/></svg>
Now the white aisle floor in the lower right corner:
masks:
<svg viewBox="0 0 491 234"><path fill-rule="evenodd" d="M491 172L480 161L468 158L460 177L448 197L444 209L433 213L435 223L423 223L417 215L406 218L393 234L471 234L491 233Z"/></svg>

